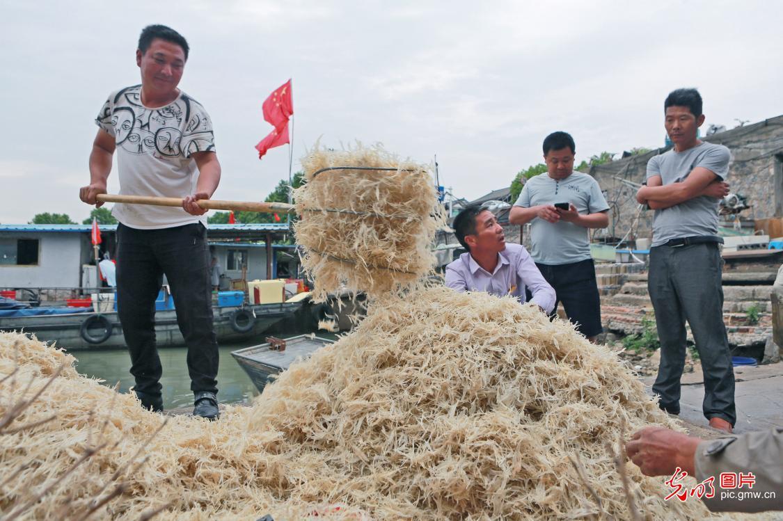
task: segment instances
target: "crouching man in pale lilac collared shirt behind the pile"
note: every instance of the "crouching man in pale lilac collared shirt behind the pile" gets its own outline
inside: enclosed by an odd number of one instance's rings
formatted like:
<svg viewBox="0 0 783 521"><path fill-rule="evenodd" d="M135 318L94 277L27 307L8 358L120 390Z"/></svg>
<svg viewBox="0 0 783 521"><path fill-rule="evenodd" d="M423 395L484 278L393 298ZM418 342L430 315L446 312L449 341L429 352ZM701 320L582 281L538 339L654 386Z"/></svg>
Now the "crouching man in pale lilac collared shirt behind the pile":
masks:
<svg viewBox="0 0 783 521"><path fill-rule="evenodd" d="M485 291L513 295L525 302L525 287L532 304L547 314L555 302L554 289L536 268L525 246L506 244L503 228L484 207L470 206L454 218L456 239L467 250L446 266L446 286L457 291Z"/></svg>

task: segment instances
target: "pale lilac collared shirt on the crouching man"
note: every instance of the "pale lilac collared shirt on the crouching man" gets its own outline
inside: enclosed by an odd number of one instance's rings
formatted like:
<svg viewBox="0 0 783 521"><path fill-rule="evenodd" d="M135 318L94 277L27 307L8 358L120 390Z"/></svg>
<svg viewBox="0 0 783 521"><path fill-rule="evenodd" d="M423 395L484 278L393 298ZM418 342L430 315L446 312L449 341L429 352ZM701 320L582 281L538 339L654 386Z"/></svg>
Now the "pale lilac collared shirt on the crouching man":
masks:
<svg viewBox="0 0 783 521"><path fill-rule="evenodd" d="M463 253L446 266L446 286L463 291L485 291L497 296L512 295L525 302L525 287L532 293L532 304L538 304L551 313L557 299L533 262L525 246L507 243L506 249L497 254L495 271L489 273L471 257Z"/></svg>

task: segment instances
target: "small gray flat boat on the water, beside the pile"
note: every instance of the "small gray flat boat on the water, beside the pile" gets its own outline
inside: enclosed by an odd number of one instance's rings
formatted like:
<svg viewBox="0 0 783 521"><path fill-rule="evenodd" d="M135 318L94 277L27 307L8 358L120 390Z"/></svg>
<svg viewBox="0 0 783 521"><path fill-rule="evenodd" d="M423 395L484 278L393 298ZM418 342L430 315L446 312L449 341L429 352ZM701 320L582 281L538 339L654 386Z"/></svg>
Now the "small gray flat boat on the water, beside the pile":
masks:
<svg viewBox="0 0 783 521"><path fill-rule="evenodd" d="M298 358L310 355L334 340L315 335L292 336L285 340L268 337L266 343L231 352L259 392Z"/></svg>

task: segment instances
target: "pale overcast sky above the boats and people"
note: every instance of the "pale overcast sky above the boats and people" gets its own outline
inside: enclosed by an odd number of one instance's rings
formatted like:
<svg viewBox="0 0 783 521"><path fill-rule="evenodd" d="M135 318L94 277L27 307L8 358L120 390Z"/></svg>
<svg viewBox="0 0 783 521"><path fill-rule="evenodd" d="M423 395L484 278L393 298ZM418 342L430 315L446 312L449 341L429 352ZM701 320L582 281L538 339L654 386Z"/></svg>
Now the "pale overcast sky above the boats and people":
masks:
<svg viewBox="0 0 783 521"><path fill-rule="evenodd" d="M0 222L90 207L93 120L139 83L142 27L189 41L180 88L215 125L216 199L262 200L288 175L287 146L262 159L261 105L289 77L294 171L318 138L381 142L474 199L541 160L551 131L577 161L662 146L662 103L697 87L707 125L783 113L783 2L149 2L0 0ZM117 192L117 175L110 176Z"/></svg>

